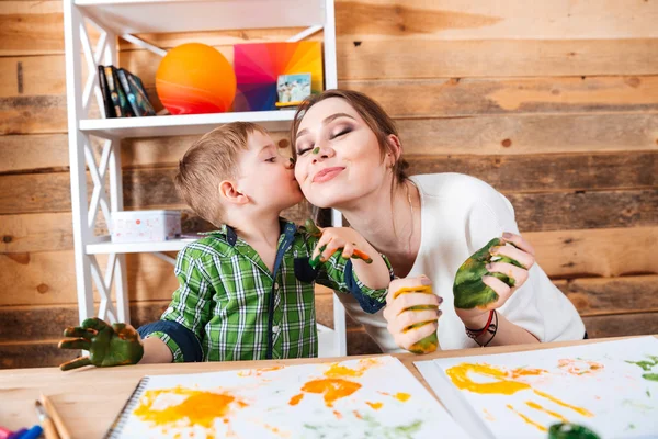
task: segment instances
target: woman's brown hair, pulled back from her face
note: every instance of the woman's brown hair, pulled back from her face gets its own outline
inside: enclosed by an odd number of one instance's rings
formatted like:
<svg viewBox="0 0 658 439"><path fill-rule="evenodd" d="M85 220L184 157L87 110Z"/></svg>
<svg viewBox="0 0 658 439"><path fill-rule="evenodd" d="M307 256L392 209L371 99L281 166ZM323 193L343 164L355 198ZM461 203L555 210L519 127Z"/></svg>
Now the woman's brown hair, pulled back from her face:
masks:
<svg viewBox="0 0 658 439"><path fill-rule="evenodd" d="M382 161L384 160L384 156L386 153L393 153L390 144L387 140L387 137L390 134L394 134L396 137L398 136L397 128L393 119L384 109L375 102L372 98L353 90L326 90L320 94L314 94L308 97L304 102L299 104L297 108L297 112L295 113L295 117L293 120L293 126L291 128L291 143L293 148L293 157L296 158L297 150L295 149L295 143L297 140L297 131L299 130L299 124L306 115L306 112L316 103L324 101L329 98L340 98L348 101L348 103L359 113L359 115L363 119L365 124L375 133L377 140L379 143L379 153L382 155ZM409 164L407 160L402 158L402 156L398 157L395 165L393 166L393 176L394 183L401 183L407 180L407 168L409 168Z"/></svg>

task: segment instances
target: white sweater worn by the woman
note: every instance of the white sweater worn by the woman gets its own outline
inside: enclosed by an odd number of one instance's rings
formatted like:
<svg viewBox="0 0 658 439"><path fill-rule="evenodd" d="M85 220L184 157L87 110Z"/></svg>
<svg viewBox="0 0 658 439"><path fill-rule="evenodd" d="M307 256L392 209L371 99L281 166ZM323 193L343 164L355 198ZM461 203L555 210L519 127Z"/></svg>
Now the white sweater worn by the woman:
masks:
<svg viewBox="0 0 658 439"><path fill-rule="evenodd" d="M474 177L461 173L415 176L420 191L421 241L408 277L426 274L443 297L439 318L441 349L477 346L464 331L453 307L453 282L460 266L503 232L519 234L514 209L501 193ZM383 311L364 313L350 294L339 294L348 314L363 324L384 352L401 351L386 329ZM571 302L535 263L527 281L498 309L541 341L578 340L585 325Z"/></svg>

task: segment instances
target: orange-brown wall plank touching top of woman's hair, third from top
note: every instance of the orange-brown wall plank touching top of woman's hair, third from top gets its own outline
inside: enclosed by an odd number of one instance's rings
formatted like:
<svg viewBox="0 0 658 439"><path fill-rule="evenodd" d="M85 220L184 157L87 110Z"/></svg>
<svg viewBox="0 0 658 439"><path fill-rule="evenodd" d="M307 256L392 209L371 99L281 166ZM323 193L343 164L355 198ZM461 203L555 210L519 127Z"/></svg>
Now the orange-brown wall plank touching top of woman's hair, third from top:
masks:
<svg viewBox="0 0 658 439"><path fill-rule="evenodd" d="M419 63L417 63L419 64ZM420 63L424 64L424 63ZM394 117L656 111L654 76L343 81Z"/></svg>

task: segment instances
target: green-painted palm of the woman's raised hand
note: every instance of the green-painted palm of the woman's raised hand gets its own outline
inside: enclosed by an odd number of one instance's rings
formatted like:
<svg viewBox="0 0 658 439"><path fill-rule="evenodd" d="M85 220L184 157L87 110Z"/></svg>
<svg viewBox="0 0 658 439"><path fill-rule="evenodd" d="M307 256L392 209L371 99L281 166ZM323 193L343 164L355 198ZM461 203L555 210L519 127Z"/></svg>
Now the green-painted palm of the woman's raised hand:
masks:
<svg viewBox="0 0 658 439"><path fill-rule="evenodd" d="M455 308L487 308L490 304L498 301L498 293L483 282L484 275L491 275L500 279L510 288L514 286L513 278L503 273L491 273L487 270L487 264L491 262L492 257L496 257L499 262L508 262L524 268L521 263L511 258L491 255L490 250L492 247L504 246L504 243L506 241L501 238L491 239L485 247L480 248L470 258L466 259L462 267L460 267L453 285Z"/></svg>

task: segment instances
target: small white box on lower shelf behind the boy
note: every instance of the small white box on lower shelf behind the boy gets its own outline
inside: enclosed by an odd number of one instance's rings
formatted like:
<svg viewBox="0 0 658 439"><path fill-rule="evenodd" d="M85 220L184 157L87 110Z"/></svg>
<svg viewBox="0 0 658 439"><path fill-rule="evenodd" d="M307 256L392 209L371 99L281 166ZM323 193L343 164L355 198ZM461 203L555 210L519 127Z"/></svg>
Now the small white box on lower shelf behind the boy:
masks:
<svg viewBox="0 0 658 439"><path fill-rule="evenodd" d="M112 243L157 243L180 236L179 211L122 211L112 214Z"/></svg>

